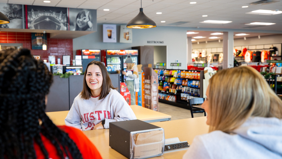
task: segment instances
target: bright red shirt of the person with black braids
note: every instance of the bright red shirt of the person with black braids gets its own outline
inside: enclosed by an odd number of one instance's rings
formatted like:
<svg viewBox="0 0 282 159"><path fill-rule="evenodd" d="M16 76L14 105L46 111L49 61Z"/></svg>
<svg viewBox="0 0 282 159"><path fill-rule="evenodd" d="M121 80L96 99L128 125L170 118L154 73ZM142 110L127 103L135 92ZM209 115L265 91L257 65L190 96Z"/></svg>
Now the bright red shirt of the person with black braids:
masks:
<svg viewBox="0 0 282 159"><path fill-rule="evenodd" d="M87 136L79 129L76 128L72 128L69 126L58 126L58 128L60 128L62 131L64 131L65 133L67 133L70 137L70 139L72 139L81 155L82 158L86 159L86 158L91 158L91 159L102 159L100 153L98 152L97 148L92 144L92 142L87 138ZM57 150L56 147L51 143L50 140L48 140L45 136L41 135L41 140L42 143L46 149L46 151L49 154L49 158L52 159L61 159L60 156L58 156L57 154ZM34 150L36 152L36 156L37 159L44 159L44 155L42 153L42 151L40 150L39 145L34 142ZM61 150L63 150L63 147L61 146ZM64 152L64 150L63 150ZM64 157L66 157L66 154L64 153ZM70 153L69 153L69 157L70 159L72 159Z"/></svg>

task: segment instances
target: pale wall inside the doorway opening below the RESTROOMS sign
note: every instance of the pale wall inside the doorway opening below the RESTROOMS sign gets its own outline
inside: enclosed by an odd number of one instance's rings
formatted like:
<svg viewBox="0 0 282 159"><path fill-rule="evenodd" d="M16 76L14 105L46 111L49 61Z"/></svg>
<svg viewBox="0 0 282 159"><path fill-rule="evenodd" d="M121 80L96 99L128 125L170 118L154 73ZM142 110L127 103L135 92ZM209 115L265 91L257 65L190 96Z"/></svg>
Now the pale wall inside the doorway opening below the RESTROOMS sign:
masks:
<svg viewBox="0 0 282 159"><path fill-rule="evenodd" d="M154 65L166 62L166 46L154 46ZM163 67L160 67L163 68ZM166 66L164 67L166 69Z"/></svg>

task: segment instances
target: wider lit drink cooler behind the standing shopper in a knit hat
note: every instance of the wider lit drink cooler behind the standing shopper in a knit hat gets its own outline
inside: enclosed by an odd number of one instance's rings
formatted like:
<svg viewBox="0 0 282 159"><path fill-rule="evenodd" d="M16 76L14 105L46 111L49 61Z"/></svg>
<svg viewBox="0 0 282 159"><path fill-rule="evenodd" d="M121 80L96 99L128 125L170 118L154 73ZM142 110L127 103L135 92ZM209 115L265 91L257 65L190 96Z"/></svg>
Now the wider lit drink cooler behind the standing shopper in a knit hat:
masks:
<svg viewBox="0 0 282 159"><path fill-rule="evenodd" d="M101 50L101 61L106 63L109 73L116 73L120 70L120 81L124 82L122 74L126 70L125 60L130 55L133 63L138 65L138 50Z"/></svg>

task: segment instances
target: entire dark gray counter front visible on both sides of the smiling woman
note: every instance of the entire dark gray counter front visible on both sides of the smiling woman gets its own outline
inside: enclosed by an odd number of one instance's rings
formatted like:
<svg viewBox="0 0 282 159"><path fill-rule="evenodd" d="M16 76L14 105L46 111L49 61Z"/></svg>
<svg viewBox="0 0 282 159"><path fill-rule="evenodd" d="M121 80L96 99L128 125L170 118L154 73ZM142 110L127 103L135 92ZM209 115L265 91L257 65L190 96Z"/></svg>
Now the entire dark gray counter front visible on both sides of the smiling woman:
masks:
<svg viewBox="0 0 282 159"><path fill-rule="evenodd" d="M72 75L69 78L60 78L53 76L54 81L48 94L48 102L45 112L57 112L70 110L75 97L83 89L83 76ZM120 93L120 76L119 74L109 74L113 87L118 88Z"/></svg>

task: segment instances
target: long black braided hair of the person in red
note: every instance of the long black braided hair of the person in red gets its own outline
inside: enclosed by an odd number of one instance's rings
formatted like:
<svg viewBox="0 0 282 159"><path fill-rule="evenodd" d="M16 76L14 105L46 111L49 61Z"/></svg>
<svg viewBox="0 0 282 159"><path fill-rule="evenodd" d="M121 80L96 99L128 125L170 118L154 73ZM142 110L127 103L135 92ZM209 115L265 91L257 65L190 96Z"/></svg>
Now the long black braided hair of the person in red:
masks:
<svg viewBox="0 0 282 159"><path fill-rule="evenodd" d="M56 147L60 158L64 159L65 152L82 159L73 140L44 112L52 81L47 66L28 49L0 51L0 159L35 159L34 142L48 159L41 134Z"/></svg>

